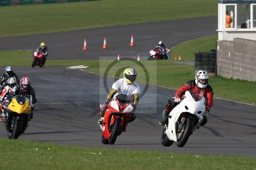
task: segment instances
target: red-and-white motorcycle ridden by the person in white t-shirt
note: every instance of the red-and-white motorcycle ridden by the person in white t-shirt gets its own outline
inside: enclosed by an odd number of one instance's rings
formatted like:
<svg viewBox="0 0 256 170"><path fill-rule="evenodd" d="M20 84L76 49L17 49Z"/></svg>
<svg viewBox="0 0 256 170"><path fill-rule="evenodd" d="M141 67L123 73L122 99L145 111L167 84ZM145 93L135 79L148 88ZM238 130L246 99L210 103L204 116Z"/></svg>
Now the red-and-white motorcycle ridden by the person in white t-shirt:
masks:
<svg viewBox="0 0 256 170"><path fill-rule="evenodd" d="M115 100L108 103L108 108L100 125L102 130L101 142L103 144L114 144L116 137L126 131L134 108L130 104L130 99L125 94L119 94Z"/></svg>

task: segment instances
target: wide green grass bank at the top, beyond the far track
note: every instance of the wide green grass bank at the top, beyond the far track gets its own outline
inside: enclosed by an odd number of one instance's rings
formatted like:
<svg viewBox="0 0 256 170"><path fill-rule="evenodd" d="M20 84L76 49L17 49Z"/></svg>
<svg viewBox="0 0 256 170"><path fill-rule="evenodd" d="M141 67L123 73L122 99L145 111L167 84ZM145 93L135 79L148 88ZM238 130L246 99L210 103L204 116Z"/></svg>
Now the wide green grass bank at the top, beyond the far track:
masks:
<svg viewBox="0 0 256 170"><path fill-rule="evenodd" d="M218 0L101 0L0 6L0 37L214 16L217 12Z"/></svg>

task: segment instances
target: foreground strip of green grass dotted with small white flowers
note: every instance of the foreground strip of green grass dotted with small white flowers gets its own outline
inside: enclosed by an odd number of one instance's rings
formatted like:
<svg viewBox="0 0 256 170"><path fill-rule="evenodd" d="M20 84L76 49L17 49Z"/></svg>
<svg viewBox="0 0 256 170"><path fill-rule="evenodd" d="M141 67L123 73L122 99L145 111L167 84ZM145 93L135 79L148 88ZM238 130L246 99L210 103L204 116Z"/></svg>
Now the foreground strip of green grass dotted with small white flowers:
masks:
<svg viewBox="0 0 256 170"><path fill-rule="evenodd" d="M100 139L99 139L100 140ZM0 139L1 169L255 169L256 158L82 148ZM50 148L50 149L48 149ZM117 163L118 162L118 163Z"/></svg>

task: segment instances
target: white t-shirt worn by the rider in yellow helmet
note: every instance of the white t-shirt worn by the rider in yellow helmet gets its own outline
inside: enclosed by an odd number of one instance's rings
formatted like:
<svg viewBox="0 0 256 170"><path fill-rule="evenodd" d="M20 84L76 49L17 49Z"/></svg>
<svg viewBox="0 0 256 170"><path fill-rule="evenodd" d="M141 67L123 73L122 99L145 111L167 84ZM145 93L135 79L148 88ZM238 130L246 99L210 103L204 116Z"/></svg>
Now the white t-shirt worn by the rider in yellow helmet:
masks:
<svg viewBox="0 0 256 170"><path fill-rule="evenodd" d="M129 98L132 97L132 94L135 94L135 93L140 94L140 86L136 82L134 82L130 85L127 85L124 78L117 80L112 85L112 88L117 90L113 99L116 99L116 96L118 94L126 94Z"/></svg>

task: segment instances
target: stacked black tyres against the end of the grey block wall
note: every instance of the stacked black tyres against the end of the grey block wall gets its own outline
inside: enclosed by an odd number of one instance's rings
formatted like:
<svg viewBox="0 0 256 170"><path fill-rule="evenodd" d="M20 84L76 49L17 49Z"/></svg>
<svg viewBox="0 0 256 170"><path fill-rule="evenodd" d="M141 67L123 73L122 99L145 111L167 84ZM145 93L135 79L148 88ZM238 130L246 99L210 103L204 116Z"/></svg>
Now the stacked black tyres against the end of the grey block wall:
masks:
<svg viewBox="0 0 256 170"><path fill-rule="evenodd" d="M195 72L205 70L207 72L215 72L216 68L216 50L210 52L195 53Z"/></svg>

